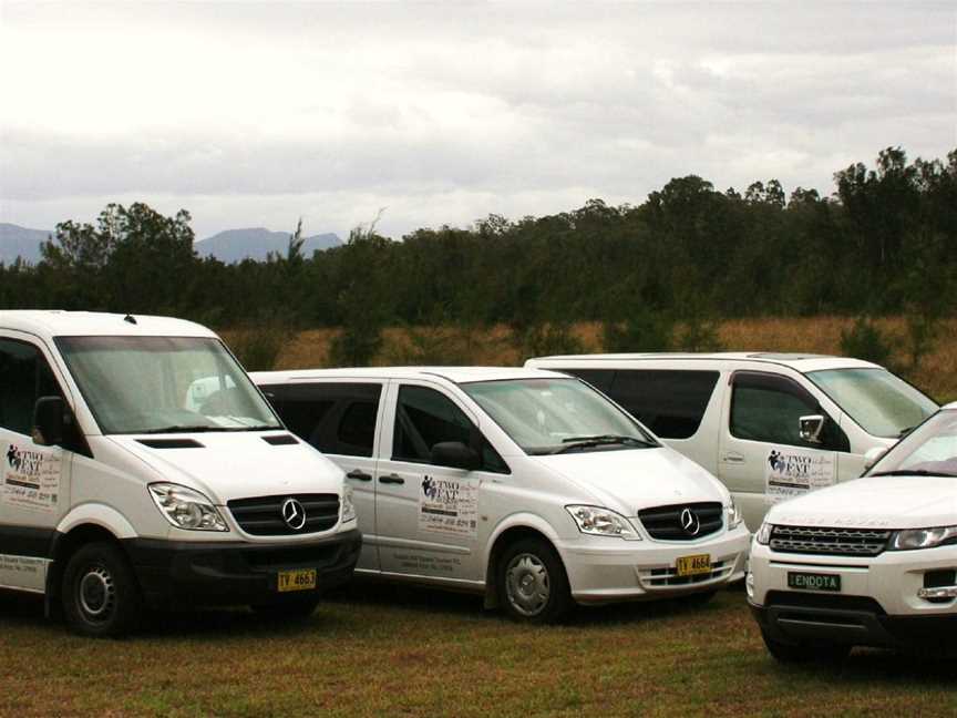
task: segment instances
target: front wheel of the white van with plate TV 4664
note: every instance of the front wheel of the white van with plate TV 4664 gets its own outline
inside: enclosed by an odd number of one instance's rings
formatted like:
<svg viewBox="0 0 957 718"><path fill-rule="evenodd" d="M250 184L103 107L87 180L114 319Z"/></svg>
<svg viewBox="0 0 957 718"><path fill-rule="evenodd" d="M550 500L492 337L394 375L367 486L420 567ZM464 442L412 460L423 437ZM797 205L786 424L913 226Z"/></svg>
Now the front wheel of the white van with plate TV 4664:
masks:
<svg viewBox="0 0 957 718"><path fill-rule="evenodd" d="M572 609L572 592L562 558L542 538L522 538L508 546L495 576L498 603L510 618L555 623Z"/></svg>

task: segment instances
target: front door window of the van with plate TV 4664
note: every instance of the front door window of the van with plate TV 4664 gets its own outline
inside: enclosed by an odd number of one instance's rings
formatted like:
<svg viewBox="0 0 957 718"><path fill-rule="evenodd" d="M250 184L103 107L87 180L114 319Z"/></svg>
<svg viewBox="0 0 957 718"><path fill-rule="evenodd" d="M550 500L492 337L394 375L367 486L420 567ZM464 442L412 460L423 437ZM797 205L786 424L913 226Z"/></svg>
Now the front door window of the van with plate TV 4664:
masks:
<svg viewBox="0 0 957 718"><path fill-rule="evenodd" d="M432 447L443 441L473 445L474 424L455 403L440 391L405 384L399 388L392 459L431 463ZM508 473L507 464L485 440L480 439L482 471Z"/></svg>

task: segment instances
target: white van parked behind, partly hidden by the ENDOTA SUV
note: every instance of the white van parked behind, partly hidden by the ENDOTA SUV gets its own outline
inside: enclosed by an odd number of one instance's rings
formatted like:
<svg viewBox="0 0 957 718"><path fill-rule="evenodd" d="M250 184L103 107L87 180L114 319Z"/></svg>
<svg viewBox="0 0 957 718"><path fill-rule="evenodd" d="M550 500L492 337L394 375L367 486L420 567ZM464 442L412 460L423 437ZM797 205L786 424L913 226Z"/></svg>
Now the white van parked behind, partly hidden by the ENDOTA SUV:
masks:
<svg viewBox="0 0 957 718"><path fill-rule="evenodd" d="M795 353L529 359L580 377L731 490L751 531L768 506L856 479L937 411L883 367Z"/></svg>

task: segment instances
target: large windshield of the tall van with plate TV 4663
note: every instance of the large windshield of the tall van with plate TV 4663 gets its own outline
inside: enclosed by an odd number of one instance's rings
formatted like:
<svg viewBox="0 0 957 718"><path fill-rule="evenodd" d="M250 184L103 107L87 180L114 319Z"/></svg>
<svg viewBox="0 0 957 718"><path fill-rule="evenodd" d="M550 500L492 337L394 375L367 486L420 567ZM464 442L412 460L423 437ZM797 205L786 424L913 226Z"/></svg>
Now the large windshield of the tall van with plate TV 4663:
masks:
<svg viewBox="0 0 957 718"><path fill-rule="evenodd" d="M56 346L104 434L281 428L218 339L58 337Z"/></svg>

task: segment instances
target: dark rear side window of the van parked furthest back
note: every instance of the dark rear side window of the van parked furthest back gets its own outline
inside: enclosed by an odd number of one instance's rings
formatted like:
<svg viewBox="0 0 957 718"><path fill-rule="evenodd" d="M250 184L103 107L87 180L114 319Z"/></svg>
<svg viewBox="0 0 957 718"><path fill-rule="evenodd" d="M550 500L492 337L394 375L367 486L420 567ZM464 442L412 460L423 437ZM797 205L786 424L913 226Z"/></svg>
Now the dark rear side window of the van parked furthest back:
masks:
<svg viewBox="0 0 957 718"><path fill-rule="evenodd" d="M662 439L689 439L698 431L718 371L622 369L608 396Z"/></svg>

